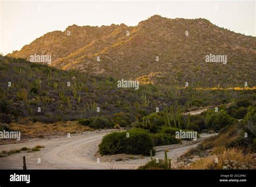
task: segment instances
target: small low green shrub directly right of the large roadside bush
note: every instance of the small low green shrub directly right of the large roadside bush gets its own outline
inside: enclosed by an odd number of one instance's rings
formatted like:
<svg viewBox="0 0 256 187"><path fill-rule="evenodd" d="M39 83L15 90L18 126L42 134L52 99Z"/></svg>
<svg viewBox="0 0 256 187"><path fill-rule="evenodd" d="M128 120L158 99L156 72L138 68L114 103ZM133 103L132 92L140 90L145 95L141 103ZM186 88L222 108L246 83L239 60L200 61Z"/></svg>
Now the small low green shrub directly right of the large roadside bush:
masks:
<svg viewBox="0 0 256 187"><path fill-rule="evenodd" d="M180 142L180 139L175 138L175 135L167 133L156 133L153 135L153 140L156 146L171 145Z"/></svg>

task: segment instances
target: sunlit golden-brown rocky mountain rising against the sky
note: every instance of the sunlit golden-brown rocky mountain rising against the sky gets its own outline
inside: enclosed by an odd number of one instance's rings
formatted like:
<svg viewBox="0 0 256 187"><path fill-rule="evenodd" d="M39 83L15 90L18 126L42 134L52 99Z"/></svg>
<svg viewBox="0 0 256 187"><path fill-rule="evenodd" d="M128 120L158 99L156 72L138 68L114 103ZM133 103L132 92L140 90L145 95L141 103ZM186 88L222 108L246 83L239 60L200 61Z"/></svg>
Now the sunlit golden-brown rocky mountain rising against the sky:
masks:
<svg viewBox="0 0 256 187"><path fill-rule="evenodd" d="M73 25L9 55L28 59L35 53L52 55L53 67L117 80L143 77L152 83L200 87L244 87L245 82L252 87L256 80L256 38L201 18L155 15L134 27ZM223 61L206 62L207 56Z"/></svg>

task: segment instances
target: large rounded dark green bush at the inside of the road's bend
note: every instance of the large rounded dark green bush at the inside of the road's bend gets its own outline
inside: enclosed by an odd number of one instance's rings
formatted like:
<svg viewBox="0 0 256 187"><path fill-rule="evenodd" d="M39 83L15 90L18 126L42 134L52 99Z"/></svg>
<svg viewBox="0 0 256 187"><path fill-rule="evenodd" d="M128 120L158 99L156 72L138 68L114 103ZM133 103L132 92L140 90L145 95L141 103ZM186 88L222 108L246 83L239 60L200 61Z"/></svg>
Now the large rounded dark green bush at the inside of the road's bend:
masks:
<svg viewBox="0 0 256 187"><path fill-rule="evenodd" d="M127 134L129 133L129 138ZM150 133L140 128L132 128L126 132L113 132L103 137L99 145L99 153L106 154L154 154L154 142Z"/></svg>

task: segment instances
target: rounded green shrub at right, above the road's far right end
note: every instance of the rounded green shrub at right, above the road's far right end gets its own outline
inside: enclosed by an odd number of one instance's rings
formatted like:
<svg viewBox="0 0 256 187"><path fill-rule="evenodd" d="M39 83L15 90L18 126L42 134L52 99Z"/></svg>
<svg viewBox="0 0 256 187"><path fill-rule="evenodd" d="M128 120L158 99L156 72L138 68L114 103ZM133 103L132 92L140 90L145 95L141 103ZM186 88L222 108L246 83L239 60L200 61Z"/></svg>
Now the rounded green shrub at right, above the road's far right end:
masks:
<svg viewBox="0 0 256 187"><path fill-rule="evenodd" d="M236 120L227 114L226 111L210 111L206 116L206 127L209 130L219 131L221 128L232 125Z"/></svg>

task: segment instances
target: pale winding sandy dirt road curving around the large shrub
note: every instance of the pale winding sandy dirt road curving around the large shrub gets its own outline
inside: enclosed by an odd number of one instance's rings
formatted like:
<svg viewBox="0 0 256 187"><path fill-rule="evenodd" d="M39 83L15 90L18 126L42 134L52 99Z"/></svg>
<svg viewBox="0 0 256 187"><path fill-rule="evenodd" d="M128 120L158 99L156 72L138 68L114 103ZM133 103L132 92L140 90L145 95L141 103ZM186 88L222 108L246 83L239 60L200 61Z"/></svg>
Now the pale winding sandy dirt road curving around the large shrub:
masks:
<svg viewBox="0 0 256 187"><path fill-rule="evenodd" d="M150 157L139 159L129 159L124 161L99 162L95 153L102 137L110 133L111 130L86 132L84 134L71 135L70 138L61 137L54 139L38 139L36 141L15 143L0 146L0 151L10 149L20 149L22 147L32 148L36 145L45 146L39 152L17 153L0 158L0 169L22 169L22 157L26 156L26 166L28 169L136 169L142 166ZM188 149L196 147L200 140L214 134L201 134L197 143L192 145L170 145L156 147L157 153L154 157L164 158L164 149L169 148L167 156L176 160ZM193 142L193 141L192 141ZM41 159L41 163L38 163Z"/></svg>

